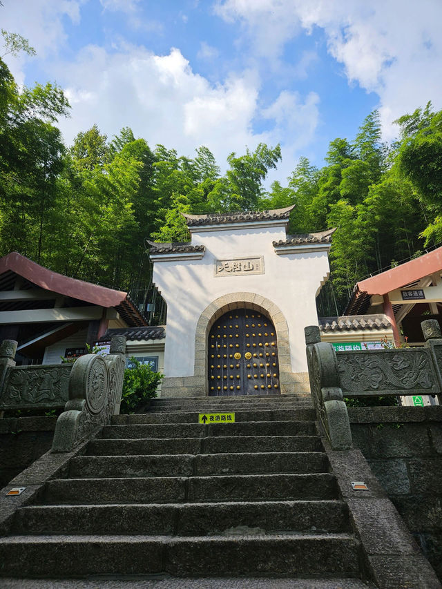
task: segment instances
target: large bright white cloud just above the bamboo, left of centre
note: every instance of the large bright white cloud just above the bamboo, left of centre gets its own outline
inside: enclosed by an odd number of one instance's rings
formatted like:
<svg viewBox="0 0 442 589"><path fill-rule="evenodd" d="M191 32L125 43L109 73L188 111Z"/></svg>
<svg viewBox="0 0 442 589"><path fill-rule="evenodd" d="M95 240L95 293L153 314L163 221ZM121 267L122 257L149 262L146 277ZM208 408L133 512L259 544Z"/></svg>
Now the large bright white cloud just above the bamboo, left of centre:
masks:
<svg viewBox="0 0 442 589"><path fill-rule="evenodd" d="M60 121L68 143L94 123L109 136L127 125L152 147L162 143L193 155L204 144L222 164L230 151L260 140L251 131L258 80L250 72L213 86L178 49L160 56L144 48L108 54L89 46L75 64L62 64L59 75L69 80L73 106L72 117Z"/></svg>

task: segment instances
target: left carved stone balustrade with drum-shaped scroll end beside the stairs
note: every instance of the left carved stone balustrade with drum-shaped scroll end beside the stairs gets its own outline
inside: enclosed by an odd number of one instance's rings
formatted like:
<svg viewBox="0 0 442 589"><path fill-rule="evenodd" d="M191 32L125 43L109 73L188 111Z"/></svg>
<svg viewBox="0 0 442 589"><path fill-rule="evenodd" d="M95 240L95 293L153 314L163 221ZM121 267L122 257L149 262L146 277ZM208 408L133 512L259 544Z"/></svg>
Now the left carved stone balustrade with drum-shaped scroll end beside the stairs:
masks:
<svg viewBox="0 0 442 589"><path fill-rule="evenodd" d="M86 354L73 364L15 366L17 342L0 345L0 411L64 407L52 452L70 452L110 423L121 403L126 338L111 338L110 354Z"/></svg>

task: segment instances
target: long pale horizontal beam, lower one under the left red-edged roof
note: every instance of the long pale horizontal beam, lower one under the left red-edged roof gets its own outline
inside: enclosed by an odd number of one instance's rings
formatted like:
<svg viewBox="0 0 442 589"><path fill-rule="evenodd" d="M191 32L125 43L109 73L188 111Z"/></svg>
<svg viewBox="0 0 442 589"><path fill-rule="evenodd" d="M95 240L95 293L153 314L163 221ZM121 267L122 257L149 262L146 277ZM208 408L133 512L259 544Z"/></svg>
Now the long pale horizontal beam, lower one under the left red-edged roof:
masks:
<svg viewBox="0 0 442 589"><path fill-rule="evenodd" d="M103 307L68 307L66 309L26 309L0 311L0 324L48 323L52 321L89 321L101 319Z"/></svg>

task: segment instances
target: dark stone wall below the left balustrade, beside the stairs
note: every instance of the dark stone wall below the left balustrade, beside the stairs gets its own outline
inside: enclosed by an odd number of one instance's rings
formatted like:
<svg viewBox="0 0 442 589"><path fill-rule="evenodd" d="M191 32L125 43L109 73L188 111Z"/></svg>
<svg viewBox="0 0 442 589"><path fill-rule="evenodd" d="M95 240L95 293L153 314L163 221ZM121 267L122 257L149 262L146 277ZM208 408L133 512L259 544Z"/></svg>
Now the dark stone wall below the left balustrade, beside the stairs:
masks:
<svg viewBox="0 0 442 589"><path fill-rule="evenodd" d="M50 450L57 417L0 419L0 489Z"/></svg>

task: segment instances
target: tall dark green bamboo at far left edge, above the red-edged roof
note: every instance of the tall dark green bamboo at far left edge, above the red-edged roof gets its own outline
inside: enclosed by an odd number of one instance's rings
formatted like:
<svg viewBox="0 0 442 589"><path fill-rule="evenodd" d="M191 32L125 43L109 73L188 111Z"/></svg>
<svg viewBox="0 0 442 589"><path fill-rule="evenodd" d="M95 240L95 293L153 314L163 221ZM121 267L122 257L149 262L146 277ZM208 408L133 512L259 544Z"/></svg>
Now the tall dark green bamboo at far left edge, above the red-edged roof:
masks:
<svg viewBox="0 0 442 589"><path fill-rule="evenodd" d="M35 51L20 35L2 31L4 55ZM68 114L61 88L36 84L19 90L8 66L0 59L0 243L1 255L20 251L46 260L46 237L55 214L57 177L64 145L54 126Z"/></svg>

